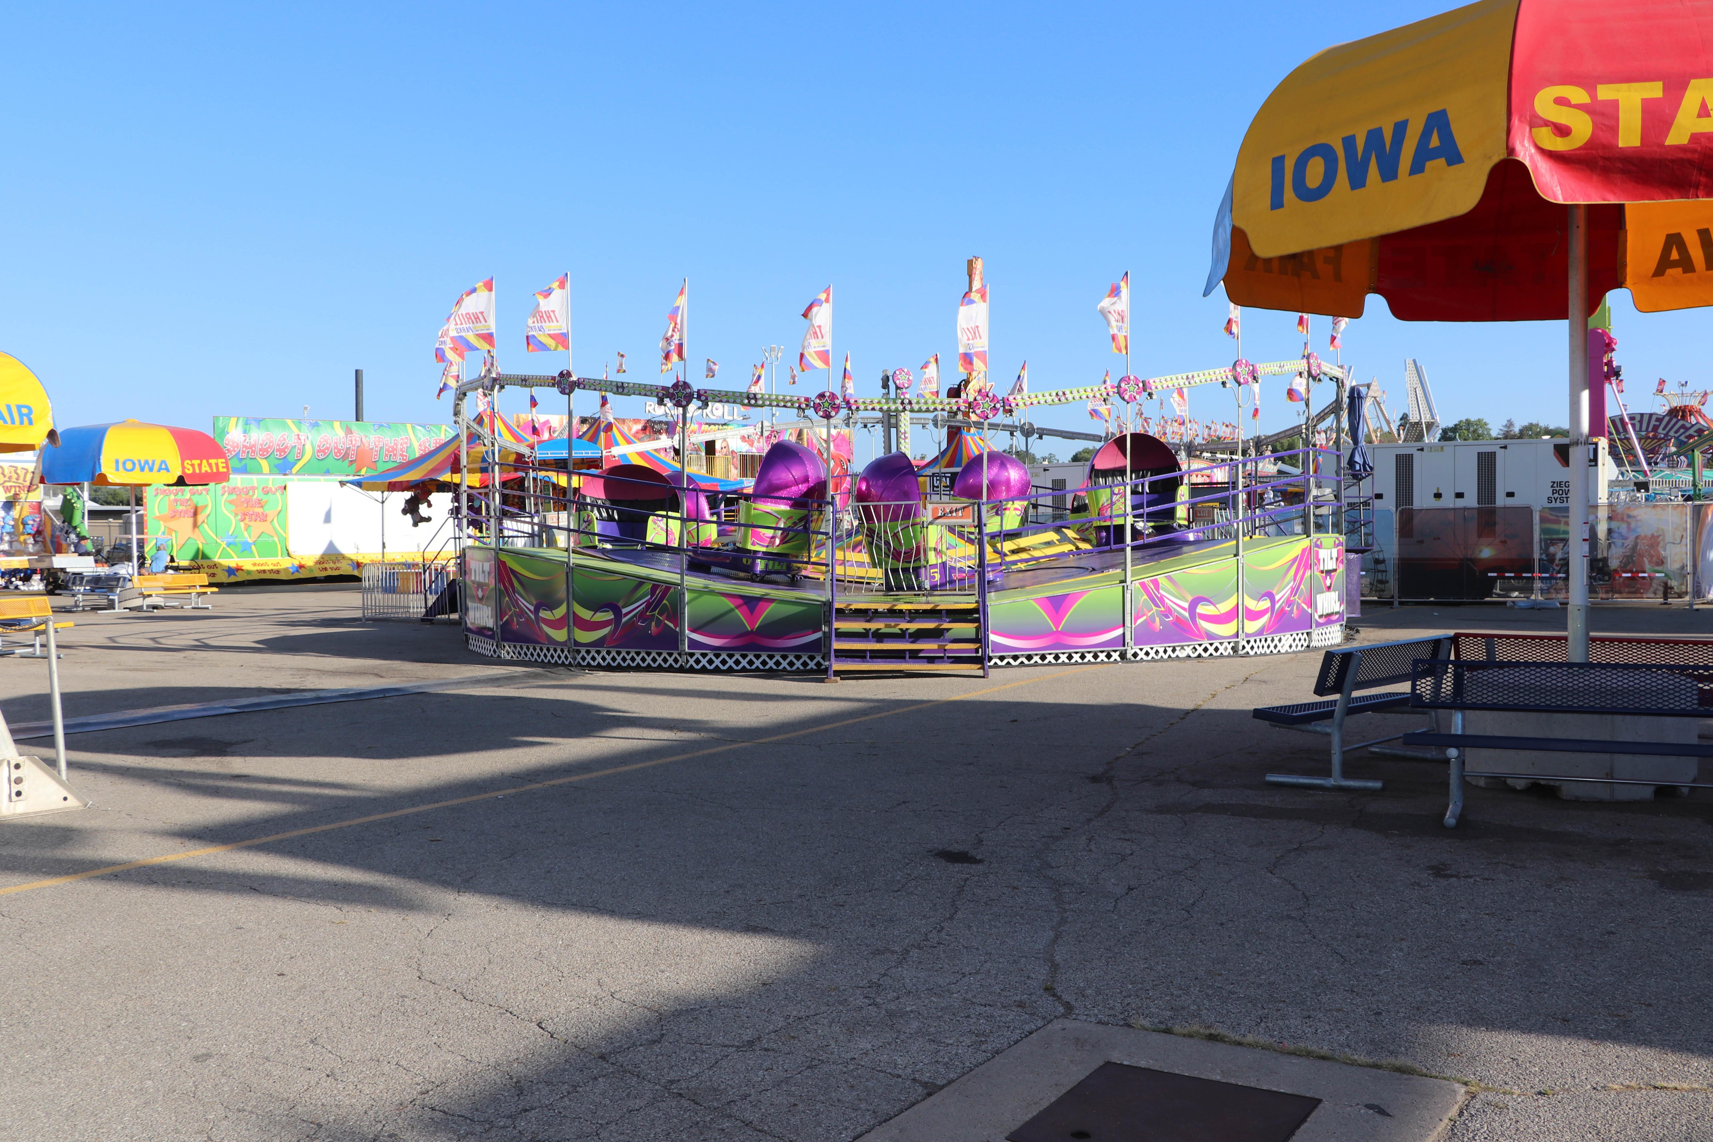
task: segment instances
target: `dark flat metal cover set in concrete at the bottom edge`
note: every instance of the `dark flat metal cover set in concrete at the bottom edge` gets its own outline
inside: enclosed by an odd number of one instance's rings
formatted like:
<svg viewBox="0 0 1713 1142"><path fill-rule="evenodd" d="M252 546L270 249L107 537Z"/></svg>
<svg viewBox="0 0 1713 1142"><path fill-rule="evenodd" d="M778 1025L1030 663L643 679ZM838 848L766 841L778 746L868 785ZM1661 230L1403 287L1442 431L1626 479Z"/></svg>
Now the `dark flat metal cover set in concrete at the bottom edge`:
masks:
<svg viewBox="0 0 1713 1142"><path fill-rule="evenodd" d="M1101 1063L1007 1142L1286 1142L1321 1099Z"/></svg>

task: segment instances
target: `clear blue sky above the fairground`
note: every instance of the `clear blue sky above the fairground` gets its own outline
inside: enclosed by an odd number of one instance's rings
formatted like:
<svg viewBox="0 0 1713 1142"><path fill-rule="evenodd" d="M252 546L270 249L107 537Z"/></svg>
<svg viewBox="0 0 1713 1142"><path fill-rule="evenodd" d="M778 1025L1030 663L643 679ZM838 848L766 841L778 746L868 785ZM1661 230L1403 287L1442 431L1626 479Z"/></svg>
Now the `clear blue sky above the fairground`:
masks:
<svg viewBox="0 0 1713 1142"><path fill-rule="evenodd" d="M1209 229L1250 115L1314 51L1442 7L15 9L0 349L62 425L348 418L355 366L370 419L444 421L433 336L481 277L504 368L560 368L522 322L570 271L577 372L624 349L651 380L689 276L690 354L731 387L767 342L795 358L833 283L834 353L874 394L930 353L954 372L980 253L1002 387L1024 358L1035 389L1119 375L1095 303L1125 269L1136 372L1209 368L1233 356L1223 294L1201 296ZM1703 312L1614 301L1632 380L1703 384ZM1245 356L1295 356L1292 324L1249 312ZM1415 356L1446 419L1564 423L1564 342L1370 298L1346 358L1394 406ZM1225 401L1196 390L1192 413ZM1290 411L1276 382L1262 426Z"/></svg>

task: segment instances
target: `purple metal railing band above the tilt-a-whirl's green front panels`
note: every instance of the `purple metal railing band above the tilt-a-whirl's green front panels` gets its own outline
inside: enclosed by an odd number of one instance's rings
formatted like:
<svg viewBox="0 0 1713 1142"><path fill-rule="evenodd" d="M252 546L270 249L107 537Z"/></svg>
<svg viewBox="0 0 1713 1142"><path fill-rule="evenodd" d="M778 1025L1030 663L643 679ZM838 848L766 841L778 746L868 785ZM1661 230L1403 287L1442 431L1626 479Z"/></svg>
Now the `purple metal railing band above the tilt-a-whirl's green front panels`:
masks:
<svg viewBox="0 0 1713 1142"><path fill-rule="evenodd" d="M850 503L845 485L855 481L841 476L831 548L836 591L975 591L985 598L987 584L1006 572L1071 553L1149 550L1233 539L1238 532L1341 534L1338 467L1334 450L1295 449L1163 476L1035 488L987 503ZM471 544L490 546L493 527L500 546L683 551L694 570L757 580L824 580L827 574L826 498L757 497L707 483L680 497L677 485L660 479L593 471L572 473L567 493L564 469L524 462L504 469L522 478L502 479L497 526L490 519L493 497L486 490L469 495ZM1233 488L1238 474L1240 491ZM1184 479L1192 483L1179 493ZM589 495L591 488L601 495ZM1132 505L1129 534L1125 490Z"/></svg>

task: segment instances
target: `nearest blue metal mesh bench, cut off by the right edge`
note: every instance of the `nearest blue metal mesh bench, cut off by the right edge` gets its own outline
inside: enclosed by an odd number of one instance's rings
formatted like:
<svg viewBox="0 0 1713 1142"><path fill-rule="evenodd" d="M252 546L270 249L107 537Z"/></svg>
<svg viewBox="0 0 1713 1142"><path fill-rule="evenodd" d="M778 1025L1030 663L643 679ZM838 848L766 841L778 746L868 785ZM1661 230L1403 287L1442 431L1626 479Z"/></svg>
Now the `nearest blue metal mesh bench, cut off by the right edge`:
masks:
<svg viewBox="0 0 1713 1142"><path fill-rule="evenodd" d="M1514 697L1494 700L1470 687L1480 671L1513 671L1507 687ZM1514 671L1528 671L1518 675ZM1674 675L1689 678L1692 687L1648 687L1650 678ZM1521 678L1523 681L1513 681ZM1641 685L1638 685L1641 683ZM1636 693L1648 693L1646 702ZM1509 735L1463 733L1465 711L1506 711L1535 714L1629 714L1634 717L1713 717L1713 666L1682 664L1614 664L1614 663L1507 663L1482 659L1427 659L1415 663L1410 681L1410 707L1453 711L1451 733L1434 729L1403 735L1405 745L1442 746L1451 762L1451 796L1446 805L1446 829L1456 829L1463 813L1465 777L1499 777L1507 781L1588 781L1614 786L1658 786L1660 781L1624 777L1581 777L1561 774L1501 774L1465 769L1465 750L1540 750L1550 753L1641 753L1650 757L1713 757L1713 745L1677 741L1595 741L1588 738L1521 738ZM1668 782L1682 789L1713 789L1708 782Z"/></svg>

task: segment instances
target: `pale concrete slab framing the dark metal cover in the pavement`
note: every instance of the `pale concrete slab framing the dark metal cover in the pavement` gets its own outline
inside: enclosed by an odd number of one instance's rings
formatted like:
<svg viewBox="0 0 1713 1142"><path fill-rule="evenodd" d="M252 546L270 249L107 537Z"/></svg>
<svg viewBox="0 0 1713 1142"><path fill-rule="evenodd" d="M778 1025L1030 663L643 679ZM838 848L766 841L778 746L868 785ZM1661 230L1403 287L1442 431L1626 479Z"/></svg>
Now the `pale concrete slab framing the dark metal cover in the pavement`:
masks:
<svg viewBox="0 0 1713 1142"><path fill-rule="evenodd" d="M1321 1099L1292 1142L1432 1142L1468 1097L1442 1079L1055 1019L860 1142L1004 1142L1108 1062Z"/></svg>

